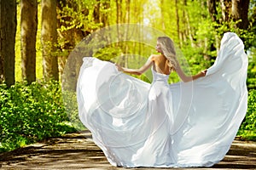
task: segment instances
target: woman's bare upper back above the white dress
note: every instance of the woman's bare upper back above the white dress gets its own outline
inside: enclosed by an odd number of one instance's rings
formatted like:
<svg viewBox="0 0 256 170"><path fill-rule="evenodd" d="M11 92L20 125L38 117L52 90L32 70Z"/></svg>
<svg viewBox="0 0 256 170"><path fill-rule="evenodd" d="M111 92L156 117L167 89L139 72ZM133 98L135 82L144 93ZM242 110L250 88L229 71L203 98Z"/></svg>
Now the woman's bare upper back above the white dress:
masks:
<svg viewBox="0 0 256 170"><path fill-rule="evenodd" d="M151 60L154 61L154 65L153 65L154 71L159 72L161 74L166 74L166 75L171 74L171 69L170 69L170 66L168 65L168 60L163 54L152 55Z"/></svg>

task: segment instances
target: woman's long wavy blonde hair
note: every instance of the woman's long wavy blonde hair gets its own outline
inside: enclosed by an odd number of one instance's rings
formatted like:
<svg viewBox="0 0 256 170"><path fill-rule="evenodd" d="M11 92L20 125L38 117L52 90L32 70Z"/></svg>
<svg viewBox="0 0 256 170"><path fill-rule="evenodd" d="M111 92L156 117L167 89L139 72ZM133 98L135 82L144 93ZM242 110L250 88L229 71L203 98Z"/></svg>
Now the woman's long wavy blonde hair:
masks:
<svg viewBox="0 0 256 170"><path fill-rule="evenodd" d="M158 37L157 41L160 44L160 50L162 51L162 54L164 54L168 60L168 66L170 67L170 70L172 71L173 69L176 69L176 50L172 39L170 37Z"/></svg>

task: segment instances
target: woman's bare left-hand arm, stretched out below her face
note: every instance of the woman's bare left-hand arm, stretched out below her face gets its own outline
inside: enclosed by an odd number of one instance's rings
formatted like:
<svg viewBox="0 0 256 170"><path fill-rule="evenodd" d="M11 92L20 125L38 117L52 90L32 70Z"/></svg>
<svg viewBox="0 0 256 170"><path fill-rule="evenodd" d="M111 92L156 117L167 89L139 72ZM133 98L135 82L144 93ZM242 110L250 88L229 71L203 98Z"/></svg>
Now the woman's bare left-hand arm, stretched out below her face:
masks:
<svg viewBox="0 0 256 170"><path fill-rule="evenodd" d="M125 68L125 67L122 67L120 65L117 65L116 66L118 67L118 70L119 71L123 71L125 73L129 73L129 74L134 74L134 75L142 75L143 72L147 71L148 68L153 64L153 59L152 59L152 56L150 56L147 60L147 62L139 69L129 69L129 68Z"/></svg>

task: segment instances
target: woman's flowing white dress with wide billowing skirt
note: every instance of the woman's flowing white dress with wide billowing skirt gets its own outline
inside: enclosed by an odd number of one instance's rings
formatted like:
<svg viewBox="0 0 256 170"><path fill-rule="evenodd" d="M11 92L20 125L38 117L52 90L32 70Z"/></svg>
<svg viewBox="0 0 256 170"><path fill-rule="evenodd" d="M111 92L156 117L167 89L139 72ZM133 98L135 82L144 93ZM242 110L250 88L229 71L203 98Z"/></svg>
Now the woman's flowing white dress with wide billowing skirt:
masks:
<svg viewBox="0 0 256 170"><path fill-rule="evenodd" d="M247 111L247 55L224 34L207 76L168 84L84 57L77 84L79 118L108 161L119 167L211 167L221 161Z"/></svg>

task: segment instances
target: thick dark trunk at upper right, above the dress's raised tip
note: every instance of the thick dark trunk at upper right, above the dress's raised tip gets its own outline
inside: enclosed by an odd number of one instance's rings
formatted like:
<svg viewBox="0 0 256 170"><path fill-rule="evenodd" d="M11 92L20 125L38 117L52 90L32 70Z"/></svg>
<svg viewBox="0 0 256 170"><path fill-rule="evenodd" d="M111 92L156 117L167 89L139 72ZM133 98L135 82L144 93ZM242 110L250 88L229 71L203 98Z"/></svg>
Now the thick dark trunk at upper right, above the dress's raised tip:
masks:
<svg viewBox="0 0 256 170"><path fill-rule="evenodd" d="M248 8L250 0L232 0L232 18L233 20L241 20L236 26L243 30L248 27Z"/></svg>

